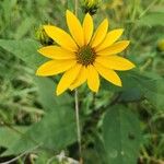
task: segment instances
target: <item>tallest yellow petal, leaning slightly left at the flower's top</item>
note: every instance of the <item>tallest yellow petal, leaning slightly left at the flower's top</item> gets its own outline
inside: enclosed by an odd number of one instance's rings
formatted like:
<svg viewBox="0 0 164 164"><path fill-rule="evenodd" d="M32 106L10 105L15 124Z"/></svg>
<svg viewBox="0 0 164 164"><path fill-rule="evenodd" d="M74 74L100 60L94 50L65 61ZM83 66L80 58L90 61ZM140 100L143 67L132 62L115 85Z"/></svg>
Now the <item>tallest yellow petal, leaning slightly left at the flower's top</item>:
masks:
<svg viewBox="0 0 164 164"><path fill-rule="evenodd" d="M81 26L80 21L69 10L67 10L66 17L67 17L67 24L68 24L71 35L73 36L77 44L80 47L82 47L84 45L84 35L83 35L83 28Z"/></svg>

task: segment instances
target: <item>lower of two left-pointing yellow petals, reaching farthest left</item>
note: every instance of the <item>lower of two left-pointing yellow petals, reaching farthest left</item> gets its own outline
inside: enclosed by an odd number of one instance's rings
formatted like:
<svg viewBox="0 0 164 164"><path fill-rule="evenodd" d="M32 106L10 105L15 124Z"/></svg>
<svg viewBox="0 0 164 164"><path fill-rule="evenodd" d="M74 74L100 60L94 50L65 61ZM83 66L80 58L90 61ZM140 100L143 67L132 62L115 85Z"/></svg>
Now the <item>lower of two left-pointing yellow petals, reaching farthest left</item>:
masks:
<svg viewBox="0 0 164 164"><path fill-rule="evenodd" d="M37 71L36 75L47 77L55 75L69 70L77 63L75 60L50 60L42 65Z"/></svg>

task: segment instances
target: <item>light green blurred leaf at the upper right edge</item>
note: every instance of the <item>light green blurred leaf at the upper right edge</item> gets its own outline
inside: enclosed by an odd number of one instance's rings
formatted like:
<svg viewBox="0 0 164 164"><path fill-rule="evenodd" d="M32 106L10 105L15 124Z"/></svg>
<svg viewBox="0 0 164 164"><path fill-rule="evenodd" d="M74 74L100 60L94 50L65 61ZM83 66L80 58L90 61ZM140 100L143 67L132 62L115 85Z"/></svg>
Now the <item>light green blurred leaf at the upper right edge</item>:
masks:
<svg viewBox="0 0 164 164"><path fill-rule="evenodd" d="M143 15L138 22L140 26L164 26L164 12L152 12L147 15Z"/></svg>

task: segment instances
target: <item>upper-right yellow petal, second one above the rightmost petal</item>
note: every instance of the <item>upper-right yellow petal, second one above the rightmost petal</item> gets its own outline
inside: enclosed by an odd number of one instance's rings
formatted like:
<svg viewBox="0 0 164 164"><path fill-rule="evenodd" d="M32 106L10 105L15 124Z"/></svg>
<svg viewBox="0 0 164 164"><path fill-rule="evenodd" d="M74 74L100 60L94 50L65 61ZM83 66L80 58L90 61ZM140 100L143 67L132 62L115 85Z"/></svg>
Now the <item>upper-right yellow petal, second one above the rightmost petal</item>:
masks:
<svg viewBox="0 0 164 164"><path fill-rule="evenodd" d="M121 36L122 32L124 32L122 28L114 30L114 31L109 32L106 35L104 42L95 48L95 51L99 51L99 50L103 50L103 49L112 46Z"/></svg>

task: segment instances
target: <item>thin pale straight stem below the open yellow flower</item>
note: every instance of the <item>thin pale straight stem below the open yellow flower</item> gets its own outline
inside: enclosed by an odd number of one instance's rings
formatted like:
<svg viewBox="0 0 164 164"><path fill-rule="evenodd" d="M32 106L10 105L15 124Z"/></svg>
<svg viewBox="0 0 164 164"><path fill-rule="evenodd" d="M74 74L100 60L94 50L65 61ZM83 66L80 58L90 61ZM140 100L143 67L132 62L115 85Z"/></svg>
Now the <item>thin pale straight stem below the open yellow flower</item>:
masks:
<svg viewBox="0 0 164 164"><path fill-rule="evenodd" d="M74 99L75 99L75 120L77 120L78 144L79 144L79 156L80 156L80 164L82 164L82 147L81 147L81 129L80 129L80 118L79 118L78 90L75 90Z"/></svg>

